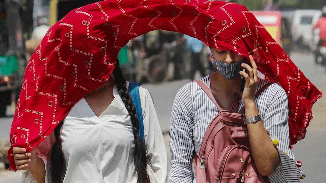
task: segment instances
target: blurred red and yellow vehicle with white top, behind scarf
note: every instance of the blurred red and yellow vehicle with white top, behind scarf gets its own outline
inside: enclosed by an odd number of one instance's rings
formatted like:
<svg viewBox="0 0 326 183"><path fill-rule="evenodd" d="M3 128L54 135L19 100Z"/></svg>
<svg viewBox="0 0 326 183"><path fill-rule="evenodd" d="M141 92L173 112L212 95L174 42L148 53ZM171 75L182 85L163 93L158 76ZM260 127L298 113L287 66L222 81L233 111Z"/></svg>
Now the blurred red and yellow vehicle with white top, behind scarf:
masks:
<svg viewBox="0 0 326 183"><path fill-rule="evenodd" d="M290 54L293 48L290 23L286 17L282 17L282 12L252 11L252 13L274 40L287 52L287 54Z"/></svg>

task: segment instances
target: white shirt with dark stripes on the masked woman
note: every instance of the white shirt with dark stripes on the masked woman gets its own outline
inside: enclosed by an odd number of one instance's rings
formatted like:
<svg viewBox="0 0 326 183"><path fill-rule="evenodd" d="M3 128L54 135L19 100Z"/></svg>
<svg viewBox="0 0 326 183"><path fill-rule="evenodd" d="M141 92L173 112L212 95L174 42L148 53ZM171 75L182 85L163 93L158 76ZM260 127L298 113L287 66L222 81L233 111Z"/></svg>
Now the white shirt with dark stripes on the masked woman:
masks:
<svg viewBox="0 0 326 183"><path fill-rule="evenodd" d="M210 88L210 77L201 79ZM258 89L267 81L260 79ZM284 89L274 83L255 100L265 129L271 139L278 139L277 150L280 164L269 176L271 183L299 182L300 170L296 166L293 152L289 148L289 105ZM238 111L243 107L242 101ZM171 114L170 183L195 182L193 172L193 150L198 155L202 139L209 123L217 115L218 109L200 88L197 82L190 82L177 93ZM218 157L218 156L217 156Z"/></svg>

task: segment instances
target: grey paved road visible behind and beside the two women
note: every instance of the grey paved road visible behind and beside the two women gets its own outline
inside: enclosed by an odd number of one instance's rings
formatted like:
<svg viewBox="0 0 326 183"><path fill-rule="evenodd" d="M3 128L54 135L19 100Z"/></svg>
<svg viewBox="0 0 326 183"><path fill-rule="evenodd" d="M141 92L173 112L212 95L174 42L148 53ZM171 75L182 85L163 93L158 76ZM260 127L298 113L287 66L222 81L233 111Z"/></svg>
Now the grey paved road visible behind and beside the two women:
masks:
<svg viewBox="0 0 326 183"><path fill-rule="evenodd" d="M291 55L291 58L312 83L314 83L317 87L326 86L326 69L319 65L315 65L313 63L312 55L295 53ZM174 96L176 92L187 82L189 82L189 80L180 80L163 85L145 85L153 96L157 115L160 120L160 126L163 132L167 132L169 130L170 110ZM322 106L323 104L319 105L323 107L320 109L326 112L326 106ZM0 139L8 138L11 121L12 117L0 119ZM317 126L316 124L321 124L321 127ZM302 167L302 170L307 175L307 178L302 182L324 182L324 172L326 172L326 147L325 140L323 139L325 136L326 125L324 125L322 121L315 120L309 126L308 134L306 135L305 139L299 141L298 144L294 146L293 151L296 158L297 160L301 160L303 162L304 166ZM168 136L165 138L168 149ZM170 154L168 156L170 160ZM20 177L18 174L10 175L11 176L7 176L7 178L1 177L0 173L0 183L20 182Z"/></svg>

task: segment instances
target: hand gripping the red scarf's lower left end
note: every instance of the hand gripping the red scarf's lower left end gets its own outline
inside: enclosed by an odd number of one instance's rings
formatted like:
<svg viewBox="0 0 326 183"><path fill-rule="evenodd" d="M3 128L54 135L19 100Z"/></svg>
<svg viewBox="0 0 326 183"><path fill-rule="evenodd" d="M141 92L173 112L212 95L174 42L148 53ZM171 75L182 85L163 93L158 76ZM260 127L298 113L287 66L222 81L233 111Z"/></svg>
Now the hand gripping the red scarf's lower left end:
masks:
<svg viewBox="0 0 326 183"><path fill-rule="evenodd" d="M31 152L26 152L25 148L14 147L12 149L14 153L14 160L17 170L30 170L31 167L35 167L38 162L35 149Z"/></svg>

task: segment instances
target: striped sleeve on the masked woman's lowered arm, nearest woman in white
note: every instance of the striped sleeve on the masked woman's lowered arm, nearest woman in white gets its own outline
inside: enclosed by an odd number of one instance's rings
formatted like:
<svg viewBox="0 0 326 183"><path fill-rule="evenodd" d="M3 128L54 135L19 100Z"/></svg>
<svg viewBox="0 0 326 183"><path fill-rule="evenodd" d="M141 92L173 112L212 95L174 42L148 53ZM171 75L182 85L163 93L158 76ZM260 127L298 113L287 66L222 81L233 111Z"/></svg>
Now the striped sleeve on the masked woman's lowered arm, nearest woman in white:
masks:
<svg viewBox="0 0 326 183"><path fill-rule="evenodd" d="M169 183L192 183L193 105L190 83L182 87L172 106L170 123L171 170Z"/></svg>

